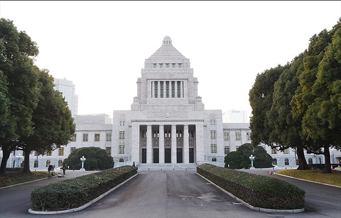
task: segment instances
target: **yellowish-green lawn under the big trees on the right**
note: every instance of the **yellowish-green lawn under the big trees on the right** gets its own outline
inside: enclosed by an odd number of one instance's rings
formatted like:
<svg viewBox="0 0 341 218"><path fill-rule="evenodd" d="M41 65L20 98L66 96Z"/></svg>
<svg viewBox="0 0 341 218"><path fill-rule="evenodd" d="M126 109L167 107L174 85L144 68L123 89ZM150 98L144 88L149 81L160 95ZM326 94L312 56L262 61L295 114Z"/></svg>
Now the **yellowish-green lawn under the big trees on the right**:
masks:
<svg viewBox="0 0 341 218"><path fill-rule="evenodd" d="M341 172L334 170L331 174L323 173L323 170L279 170L276 174L341 186Z"/></svg>

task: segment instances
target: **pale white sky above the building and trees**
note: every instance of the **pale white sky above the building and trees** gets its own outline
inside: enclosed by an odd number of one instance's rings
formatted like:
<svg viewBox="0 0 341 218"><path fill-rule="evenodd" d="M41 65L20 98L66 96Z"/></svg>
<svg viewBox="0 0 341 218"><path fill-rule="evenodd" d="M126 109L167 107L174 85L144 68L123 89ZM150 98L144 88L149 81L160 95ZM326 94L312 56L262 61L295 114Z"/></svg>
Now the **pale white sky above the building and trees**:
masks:
<svg viewBox="0 0 341 218"><path fill-rule="evenodd" d="M36 65L76 84L78 114L130 110L141 69L170 36L190 60L205 109L246 110L258 73L303 52L341 1L4 1L39 47Z"/></svg>

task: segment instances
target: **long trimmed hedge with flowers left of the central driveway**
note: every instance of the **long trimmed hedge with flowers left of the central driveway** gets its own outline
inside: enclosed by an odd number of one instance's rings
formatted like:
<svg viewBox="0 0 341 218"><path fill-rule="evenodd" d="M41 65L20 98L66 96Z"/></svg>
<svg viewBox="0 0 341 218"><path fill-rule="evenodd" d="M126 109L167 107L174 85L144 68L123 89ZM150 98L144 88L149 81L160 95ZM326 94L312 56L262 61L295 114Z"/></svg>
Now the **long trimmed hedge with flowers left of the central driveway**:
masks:
<svg viewBox="0 0 341 218"><path fill-rule="evenodd" d="M137 167L122 166L41 186L31 192L32 210L77 208L137 174Z"/></svg>

